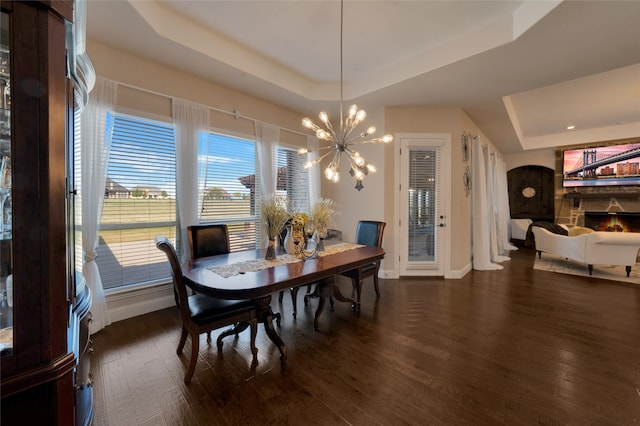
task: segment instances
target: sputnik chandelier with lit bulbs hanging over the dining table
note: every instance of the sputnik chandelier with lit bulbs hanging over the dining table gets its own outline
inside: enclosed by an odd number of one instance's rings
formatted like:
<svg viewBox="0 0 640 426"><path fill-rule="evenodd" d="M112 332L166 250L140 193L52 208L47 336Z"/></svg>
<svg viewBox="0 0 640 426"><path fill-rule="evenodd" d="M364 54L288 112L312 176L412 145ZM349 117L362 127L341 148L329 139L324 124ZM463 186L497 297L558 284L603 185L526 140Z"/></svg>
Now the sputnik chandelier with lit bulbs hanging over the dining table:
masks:
<svg viewBox="0 0 640 426"><path fill-rule="evenodd" d="M326 143L325 146L317 148L320 150L329 150L325 154L315 158L314 160L307 161L304 165L305 169L310 169L314 165L320 163L323 159L329 155L333 155L329 165L324 170L324 175L330 181L337 183L340 180L340 160L343 157L348 161L349 174L356 179L355 188L360 191L364 186L362 180L369 173L374 173L376 168L373 164L369 164L365 159L354 150L354 145L365 143L390 143L393 142L393 136L384 135L380 138L367 139L373 135L376 128L371 126L366 130L359 132L357 127L367 117L367 113L358 109L357 105L351 105L349 107L349 113L346 118L343 118L343 78L342 78L342 36L343 36L343 22L344 22L344 2L340 1L340 123L337 129L331 125L329 121L329 115L322 111L319 114L320 121L322 121L323 127L318 126L309 118L302 119L302 125L315 132L316 137L320 143ZM313 152L312 149L300 148L298 153L300 155Z"/></svg>

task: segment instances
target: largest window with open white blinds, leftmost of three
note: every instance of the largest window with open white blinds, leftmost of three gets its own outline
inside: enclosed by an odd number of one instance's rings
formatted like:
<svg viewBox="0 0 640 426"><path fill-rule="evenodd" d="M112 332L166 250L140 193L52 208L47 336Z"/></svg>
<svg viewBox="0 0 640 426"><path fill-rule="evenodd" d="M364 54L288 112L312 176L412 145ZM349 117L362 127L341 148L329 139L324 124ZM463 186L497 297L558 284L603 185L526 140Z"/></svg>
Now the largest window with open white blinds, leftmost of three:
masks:
<svg viewBox="0 0 640 426"><path fill-rule="evenodd" d="M114 120L96 262L105 289L169 276L155 237L176 238L172 125L125 115Z"/></svg>

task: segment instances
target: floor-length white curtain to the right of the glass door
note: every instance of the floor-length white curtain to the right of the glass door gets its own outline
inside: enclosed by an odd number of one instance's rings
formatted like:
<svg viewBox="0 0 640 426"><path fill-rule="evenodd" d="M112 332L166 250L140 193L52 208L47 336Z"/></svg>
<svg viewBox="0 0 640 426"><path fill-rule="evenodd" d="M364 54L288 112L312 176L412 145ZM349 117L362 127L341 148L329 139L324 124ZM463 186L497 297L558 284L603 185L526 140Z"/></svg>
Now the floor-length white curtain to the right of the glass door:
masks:
<svg viewBox="0 0 640 426"><path fill-rule="evenodd" d="M471 153L473 269L502 269L498 263L509 260L504 252L513 247L507 239L509 195L506 166L498 154L489 152L488 146L482 146L475 135Z"/></svg>

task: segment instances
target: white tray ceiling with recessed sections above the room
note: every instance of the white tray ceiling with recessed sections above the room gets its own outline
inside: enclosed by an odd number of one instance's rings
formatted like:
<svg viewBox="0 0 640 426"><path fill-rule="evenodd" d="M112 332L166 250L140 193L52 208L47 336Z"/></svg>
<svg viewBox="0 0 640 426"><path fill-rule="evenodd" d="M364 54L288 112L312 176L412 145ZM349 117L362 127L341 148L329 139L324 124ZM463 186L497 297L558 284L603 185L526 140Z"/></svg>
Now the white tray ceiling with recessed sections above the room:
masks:
<svg viewBox="0 0 640 426"><path fill-rule="evenodd" d="M505 154L640 137L639 22L640 1L347 0L343 98L461 107ZM340 99L335 0L89 0L87 37L301 116Z"/></svg>

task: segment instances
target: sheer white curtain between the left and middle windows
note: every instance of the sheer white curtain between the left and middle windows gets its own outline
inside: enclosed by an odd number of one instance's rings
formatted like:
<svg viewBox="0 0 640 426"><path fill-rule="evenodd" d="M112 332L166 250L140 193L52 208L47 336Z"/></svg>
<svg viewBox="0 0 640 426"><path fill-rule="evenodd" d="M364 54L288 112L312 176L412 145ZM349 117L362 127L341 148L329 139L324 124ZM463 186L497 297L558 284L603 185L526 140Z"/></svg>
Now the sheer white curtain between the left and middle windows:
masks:
<svg viewBox="0 0 640 426"><path fill-rule="evenodd" d="M172 99L171 109L176 126L176 199L180 220L182 261L189 260L187 226L197 225L202 210L199 197L198 157L209 131L209 109L180 99ZM203 188L202 188L203 189Z"/></svg>

